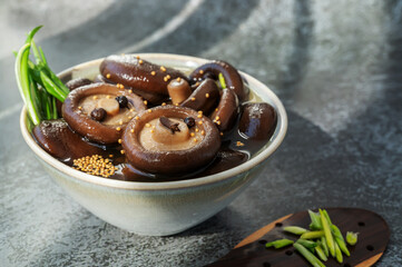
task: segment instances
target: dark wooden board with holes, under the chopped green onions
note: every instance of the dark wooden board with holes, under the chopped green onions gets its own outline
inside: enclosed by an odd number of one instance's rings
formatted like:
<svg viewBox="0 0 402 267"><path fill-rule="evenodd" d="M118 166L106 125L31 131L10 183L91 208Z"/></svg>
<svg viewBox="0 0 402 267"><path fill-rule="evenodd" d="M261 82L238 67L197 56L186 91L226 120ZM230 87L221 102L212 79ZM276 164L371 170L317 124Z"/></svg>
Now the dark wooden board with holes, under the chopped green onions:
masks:
<svg viewBox="0 0 402 267"><path fill-rule="evenodd" d="M359 208L326 208L332 222L342 231L359 234L355 246L347 246L351 256L344 255L343 264L330 258L325 266L365 267L372 266L383 255L390 239L390 229L378 214ZM317 210L314 210L317 211ZM301 226L308 229L311 222L307 211L287 215L253 233L242 240L225 257L208 265L214 266L258 266L258 267L306 267L311 266L294 248L265 248L266 241L281 238L296 240L298 237L284 233L283 226Z"/></svg>

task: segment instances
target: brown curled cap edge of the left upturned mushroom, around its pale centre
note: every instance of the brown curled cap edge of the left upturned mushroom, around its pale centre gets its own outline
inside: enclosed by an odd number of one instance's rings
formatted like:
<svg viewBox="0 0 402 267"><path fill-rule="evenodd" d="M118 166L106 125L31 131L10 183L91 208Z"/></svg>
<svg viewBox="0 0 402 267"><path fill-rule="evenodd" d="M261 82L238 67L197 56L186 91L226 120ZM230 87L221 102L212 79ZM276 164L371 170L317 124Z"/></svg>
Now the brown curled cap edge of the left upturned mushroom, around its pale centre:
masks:
<svg viewBox="0 0 402 267"><path fill-rule="evenodd" d="M118 139L120 139L126 126L107 126L91 119L90 112L84 113L79 110L78 107L80 100L94 95L110 95L114 98L125 96L128 102L133 105L136 110L143 111L146 109L144 101L139 96L129 92L129 90L120 89L108 83L92 83L71 91L62 105L62 117L72 130L95 142L106 145L117 142ZM118 130L118 128L120 130Z"/></svg>

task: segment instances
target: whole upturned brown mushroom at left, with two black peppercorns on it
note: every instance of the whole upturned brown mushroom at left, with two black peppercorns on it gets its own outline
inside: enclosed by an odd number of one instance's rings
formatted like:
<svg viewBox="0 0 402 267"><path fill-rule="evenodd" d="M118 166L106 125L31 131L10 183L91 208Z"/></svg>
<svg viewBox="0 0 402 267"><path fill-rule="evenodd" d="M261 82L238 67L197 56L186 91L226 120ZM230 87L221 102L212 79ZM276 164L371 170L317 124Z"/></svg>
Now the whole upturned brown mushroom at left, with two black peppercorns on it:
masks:
<svg viewBox="0 0 402 267"><path fill-rule="evenodd" d="M120 108L117 97L124 96L128 100L127 108ZM91 118L96 108L107 112L101 122ZM146 109L140 97L108 83L92 83L80 87L70 92L62 106L62 117L78 134L89 140L100 144L114 144L130 119Z"/></svg>

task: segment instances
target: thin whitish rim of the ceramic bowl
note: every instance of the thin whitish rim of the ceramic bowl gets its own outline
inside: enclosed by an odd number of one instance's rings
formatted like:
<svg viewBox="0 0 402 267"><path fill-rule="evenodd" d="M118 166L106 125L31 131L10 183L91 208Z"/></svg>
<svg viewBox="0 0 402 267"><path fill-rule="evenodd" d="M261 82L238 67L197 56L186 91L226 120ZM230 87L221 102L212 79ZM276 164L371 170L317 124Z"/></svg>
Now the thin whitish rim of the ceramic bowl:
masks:
<svg viewBox="0 0 402 267"><path fill-rule="evenodd" d="M144 59L150 59L150 60L153 58L166 59L166 60L173 59L173 60L179 60L179 61L190 61L190 62L195 62L197 65L203 65L207 61L210 61L207 59L202 59L202 58L196 58L196 57L190 57L190 56L173 55L173 53L136 53L136 55L138 55L139 57L141 57ZM73 69L82 68L87 65L100 63L101 60L104 60L104 58L90 60L90 61L73 66L71 68L68 68L68 69L61 71L60 73L58 73L58 76L62 77L62 76L71 72ZM231 177L241 175L242 172L245 172L245 171L252 169L253 167L256 167L261 162L263 162L267 157L269 157L269 155L272 155L278 148L278 146L282 144L282 141L286 135L286 131L287 131L286 111L285 111L283 103L277 98L277 96L267 86L265 86L257 79L253 78L252 76L249 76L243 71L239 71L239 72L248 81L252 81L253 83L258 85L258 87L264 88L265 93L268 96L269 100L272 101L272 103L274 103L274 106L276 108L276 111L278 115L277 118L278 118L280 129L276 129L277 136L271 141L269 146L267 146L258 155L254 156L246 162L244 162L235 168L232 168L232 169L228 169L228 170L215 174L215 175L209 175L209 176L199 177L199 178L184 179L184 180L175 180L175 181L144 182L144 181L116 180L116 179L102 178L102 177L85 174L82 171L72 169L71 167L57 160L56 158L50 156L48 152L46 152L33 140L33 138L29 134L29 131L27 129L27 125L26 125L26 121L27 121L26 107L22 107L21 115L20 115L20 128L21 128L22 137L26 140L27 145L32 149L32 151L41 160L43 160L51 167L66 174L67 176L70 176L70 177L73 177L73 178L77 178L79 180L84 180L84 181L87 181L90 184L95 184L98 186L106 186L106 187L129 189L129 190L164 190L164 189L182 189L182 188L187 188L187 187L197 187L197 186L203 186L203 185L207 185L207 184L223 181Z"/></svg>

